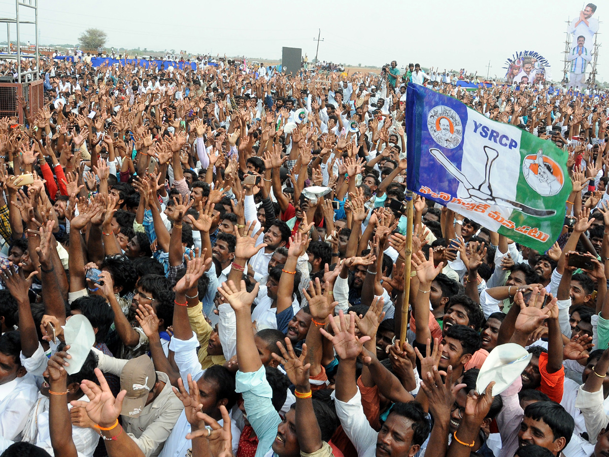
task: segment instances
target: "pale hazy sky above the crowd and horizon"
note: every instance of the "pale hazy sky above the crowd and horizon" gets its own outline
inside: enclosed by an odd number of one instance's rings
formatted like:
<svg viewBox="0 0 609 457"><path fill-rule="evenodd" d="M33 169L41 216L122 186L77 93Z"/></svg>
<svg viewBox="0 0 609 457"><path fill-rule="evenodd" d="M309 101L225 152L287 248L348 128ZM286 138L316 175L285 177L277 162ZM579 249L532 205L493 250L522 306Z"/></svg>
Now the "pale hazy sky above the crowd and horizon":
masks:
<svg viewBox="0 0 609 457"><path fill-rule="evenodd" d="M30 1L30 0L24 0ZM33 0L32 0L33 1ZM609 4L597 1L601 21L598 79L609 79ZM391 60L423 67L505 75L505 60L515 52L537 51L560 79L567 19L585 3L574 0L491 1L474 7L463 2L309 0L284 2L231 0L125 1L38 0L40 44L77 43L88 27L108 35L106 46L183 49L194 54L245 55L250 60L280 59L281 47L301 48L319 60L381 66ZM20 14L32 17L21 7ZM14 17L15 2L0 0L0 16ZM12 26L12 40L15 40ZM605 29L607 27L607 29ZM5 41L5 26L0 41ZM21 28L21 41L34 41L33 26ZM490 65L490 68L487 68Z"/></svg>

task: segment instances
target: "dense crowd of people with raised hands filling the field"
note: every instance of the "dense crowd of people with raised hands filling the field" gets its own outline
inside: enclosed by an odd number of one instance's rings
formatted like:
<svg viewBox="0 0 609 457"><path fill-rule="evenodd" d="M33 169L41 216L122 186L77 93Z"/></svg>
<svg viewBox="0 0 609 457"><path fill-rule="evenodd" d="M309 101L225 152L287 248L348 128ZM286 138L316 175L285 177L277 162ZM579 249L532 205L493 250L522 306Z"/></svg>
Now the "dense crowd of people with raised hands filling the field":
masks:
<svg viewBox="0 0 609 457"><path fill-rule="evenodd" d="M607 92L40 73L44 108L0 119L2 456L609 455ZM552 249L419 196L407 220L409 84L564 149ZM478 391L508 342L528 366Z"/></svg>

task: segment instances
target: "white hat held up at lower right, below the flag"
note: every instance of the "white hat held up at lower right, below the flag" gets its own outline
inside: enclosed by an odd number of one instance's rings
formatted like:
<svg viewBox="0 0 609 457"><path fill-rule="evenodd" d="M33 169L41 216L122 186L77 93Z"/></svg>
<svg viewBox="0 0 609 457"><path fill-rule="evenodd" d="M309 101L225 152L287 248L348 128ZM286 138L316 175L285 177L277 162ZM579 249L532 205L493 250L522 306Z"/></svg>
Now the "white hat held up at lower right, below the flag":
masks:
<svg viewBox="0 0 609 457"><path fill-rule="evenodd" d="M495 381L493 395L501 394L520 376L529 364L531 357L532 354L529 354L519 344L498 345L491 351L480 368L476 390L479 394L483 394L488 384Z"/></svg>

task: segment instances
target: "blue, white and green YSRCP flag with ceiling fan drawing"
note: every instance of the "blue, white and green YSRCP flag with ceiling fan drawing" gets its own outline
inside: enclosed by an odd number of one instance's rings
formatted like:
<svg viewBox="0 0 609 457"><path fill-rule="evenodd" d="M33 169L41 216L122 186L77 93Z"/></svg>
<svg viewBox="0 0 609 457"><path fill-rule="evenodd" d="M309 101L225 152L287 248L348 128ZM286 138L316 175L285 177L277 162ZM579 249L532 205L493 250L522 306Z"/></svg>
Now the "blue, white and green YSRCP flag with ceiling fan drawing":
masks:
<svg viewBox="0 0 609 457"><path fill-rule="evenodd" d="M406 132L409 190L540 252L558 238L571 180L551 141L415 84Z"/></svg>

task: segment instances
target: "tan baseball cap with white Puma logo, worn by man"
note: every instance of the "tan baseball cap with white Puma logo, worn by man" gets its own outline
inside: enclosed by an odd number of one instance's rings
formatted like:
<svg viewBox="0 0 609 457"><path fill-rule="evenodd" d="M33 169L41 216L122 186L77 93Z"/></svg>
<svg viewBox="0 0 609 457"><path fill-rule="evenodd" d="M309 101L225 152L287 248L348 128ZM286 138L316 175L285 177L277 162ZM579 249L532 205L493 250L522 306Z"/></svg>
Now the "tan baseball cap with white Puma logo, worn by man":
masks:
<svg viewBox="0 0 609 457"><path fill-rule="evenodd" d="M156 380L157 374L149 356L141 355L125 364L121 371L121 389L125 389L127 395L122 402L122 416L139 417Z"/></svg>

